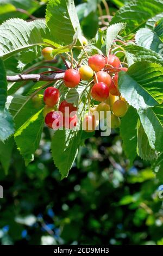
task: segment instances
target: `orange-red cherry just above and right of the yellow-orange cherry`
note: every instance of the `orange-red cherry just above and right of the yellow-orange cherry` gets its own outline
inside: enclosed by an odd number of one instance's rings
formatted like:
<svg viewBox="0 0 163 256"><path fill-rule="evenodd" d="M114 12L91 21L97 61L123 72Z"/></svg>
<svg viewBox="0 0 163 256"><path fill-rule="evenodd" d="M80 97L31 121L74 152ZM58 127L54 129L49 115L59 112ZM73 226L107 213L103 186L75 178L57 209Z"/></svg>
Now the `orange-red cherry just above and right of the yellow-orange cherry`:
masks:
<svg viewBox="0 0 163 256"><path fill-rule="evenodd" d="M91 56L88 60L88 64L93 69L93 71L98 72L102 70L105 66L105 59L99 54Z"/></svg>

